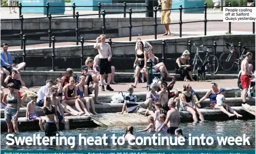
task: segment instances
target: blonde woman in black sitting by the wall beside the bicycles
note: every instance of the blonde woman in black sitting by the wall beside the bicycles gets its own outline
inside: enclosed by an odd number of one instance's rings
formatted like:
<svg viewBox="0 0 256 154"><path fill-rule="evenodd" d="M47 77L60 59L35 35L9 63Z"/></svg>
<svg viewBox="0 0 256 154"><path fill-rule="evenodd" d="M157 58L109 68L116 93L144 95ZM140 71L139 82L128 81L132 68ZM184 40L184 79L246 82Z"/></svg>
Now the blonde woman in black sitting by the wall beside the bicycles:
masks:
<svg viewBox="0 0 256 154"><path fill-rule="evenodd" d="M191 66L189 65L189 51L185 50L181 57L177 58L176 60L176 67L175 67L175 73L180 74L183 78L184 81L190 81L188 77L191 79L191 81L195 81L192 78L192 71L191 71Z"/></svg>

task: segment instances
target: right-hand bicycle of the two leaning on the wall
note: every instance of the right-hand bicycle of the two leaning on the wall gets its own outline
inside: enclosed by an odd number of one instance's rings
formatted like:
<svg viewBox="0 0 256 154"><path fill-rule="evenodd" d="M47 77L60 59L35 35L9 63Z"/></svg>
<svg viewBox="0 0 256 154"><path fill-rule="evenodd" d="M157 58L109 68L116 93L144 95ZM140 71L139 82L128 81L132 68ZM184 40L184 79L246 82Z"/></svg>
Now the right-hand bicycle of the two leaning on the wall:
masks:
<svg viewBox="0 0 256 154"><path fill-rule="evenodd" d="M237 45L235 43L228 43L226 42L226 47L229 49L229 46L232 47L232 49L230 51L225 51L221 54L220 56L220 65L221 68L224 71L229 71L234 67L234 64L236 64L238 66L238 71L240 71L240 65L241 62L244 60L245 58L245 53L248 52L248 48L243 46L244 50L240 56L239 59L236 58L236 47Z"/></svg>

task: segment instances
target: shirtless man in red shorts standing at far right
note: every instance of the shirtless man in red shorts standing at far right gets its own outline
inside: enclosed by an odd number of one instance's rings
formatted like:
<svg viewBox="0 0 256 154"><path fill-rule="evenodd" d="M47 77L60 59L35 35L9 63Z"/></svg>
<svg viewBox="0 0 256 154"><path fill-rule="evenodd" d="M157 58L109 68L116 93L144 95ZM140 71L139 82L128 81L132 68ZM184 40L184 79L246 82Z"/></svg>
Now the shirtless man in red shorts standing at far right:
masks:
<svg viewBox="0 0 256 154"><path fill-rule="evenodd" d="M243 104L242 107L250 107L246 103L246 96L248 89L250 88L250 70L249 70L249 60L252 60L253 54L251 52L247 52L245 59L241 63L241 86L243 88L243 93L242 93L242 99L243 99Z"/></svg>

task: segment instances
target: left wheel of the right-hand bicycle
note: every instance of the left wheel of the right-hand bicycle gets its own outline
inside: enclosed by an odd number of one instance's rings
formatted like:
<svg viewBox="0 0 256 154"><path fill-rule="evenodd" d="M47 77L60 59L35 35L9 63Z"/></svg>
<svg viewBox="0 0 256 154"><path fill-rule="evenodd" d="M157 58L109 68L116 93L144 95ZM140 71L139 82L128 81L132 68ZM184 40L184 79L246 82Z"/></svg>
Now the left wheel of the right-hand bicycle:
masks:
<svg viewBox="0 0 256 154"><path fill-rule="evenodd" d="M235 57L230 51L223 52L220 56L220 65L224 71L229 71L235 64Z"/></svg>

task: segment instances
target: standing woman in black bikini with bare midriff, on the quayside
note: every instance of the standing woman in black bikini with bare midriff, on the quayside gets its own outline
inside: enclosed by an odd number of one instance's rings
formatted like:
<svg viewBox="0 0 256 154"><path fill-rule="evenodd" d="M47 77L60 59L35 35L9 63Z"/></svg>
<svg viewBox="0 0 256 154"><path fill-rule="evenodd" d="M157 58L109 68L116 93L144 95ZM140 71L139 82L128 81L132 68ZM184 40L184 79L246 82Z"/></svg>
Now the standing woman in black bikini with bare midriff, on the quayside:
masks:
<svg viewBox="0 0 256 154"><path fill-rule="evenodd" d="M137 83L139 81L139 75L141 69L145 69L146 71L146 64L147 64L147 52L144 50L144 44L142 41L138 42L138 48L135 49L136 53L136 59L134 62L134 65L136 65L136 70L135 70L135 83L132 85L134 88L136 88Z"/></svg>

